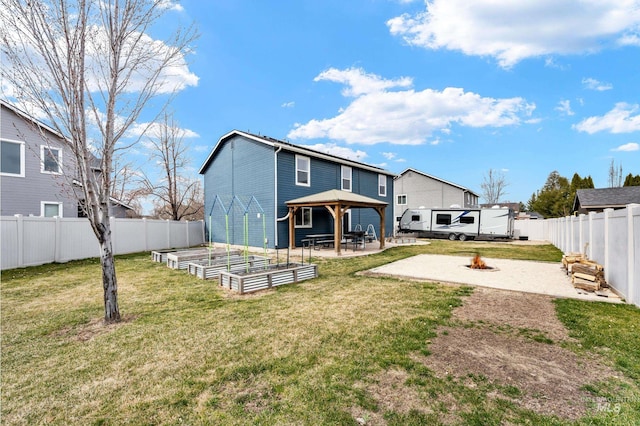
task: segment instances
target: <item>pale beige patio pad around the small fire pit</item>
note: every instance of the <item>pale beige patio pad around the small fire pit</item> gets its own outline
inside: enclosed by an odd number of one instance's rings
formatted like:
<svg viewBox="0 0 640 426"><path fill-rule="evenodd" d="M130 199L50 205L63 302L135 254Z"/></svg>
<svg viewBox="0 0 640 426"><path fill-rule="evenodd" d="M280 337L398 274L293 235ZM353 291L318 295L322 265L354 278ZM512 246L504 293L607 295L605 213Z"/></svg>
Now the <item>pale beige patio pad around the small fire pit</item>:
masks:
<svg viewBox="0 0 640 426"><path fill-rule="evenodd" d="M579 300L621 302L611 292L608 292L609 297L602 297L575 289L560 263L488 258L482 260L494 269L470 269L467 267L471 261L468 257L421 254L370 269L365 274L467 284Z"/></svg>

